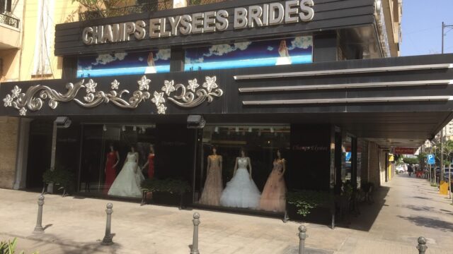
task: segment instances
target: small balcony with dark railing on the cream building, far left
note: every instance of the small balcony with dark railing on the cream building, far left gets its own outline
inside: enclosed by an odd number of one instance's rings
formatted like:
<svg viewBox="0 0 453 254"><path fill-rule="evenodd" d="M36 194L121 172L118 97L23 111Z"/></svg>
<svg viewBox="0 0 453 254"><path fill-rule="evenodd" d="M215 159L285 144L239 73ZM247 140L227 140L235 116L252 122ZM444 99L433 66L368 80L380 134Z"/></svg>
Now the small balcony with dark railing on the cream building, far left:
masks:
<svg viewBox="0 0 453 254"><path fill-rule="evenodd" d="M0 49L21 47L20 20L0 13Z"/></svg>

